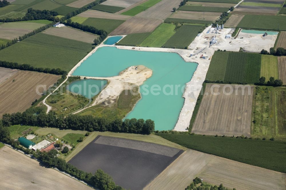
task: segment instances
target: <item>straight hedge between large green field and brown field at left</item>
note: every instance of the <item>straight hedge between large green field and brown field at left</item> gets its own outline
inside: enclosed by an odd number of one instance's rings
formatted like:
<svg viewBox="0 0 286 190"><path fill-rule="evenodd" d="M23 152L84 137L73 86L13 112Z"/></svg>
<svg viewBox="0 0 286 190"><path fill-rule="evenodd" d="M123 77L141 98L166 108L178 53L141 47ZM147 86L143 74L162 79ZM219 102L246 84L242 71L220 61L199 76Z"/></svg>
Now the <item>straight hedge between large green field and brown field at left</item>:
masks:
<svg viewBox="0 0 286 190"><path fill-rule="evenodd" d="M65 70L61 70L60 68L51 69L51 68L42 68L42 67L34 67L29 64L19 64L16 62L7 62L0 60L0 67L11 68L11 69L19 69L19 70L29 70L29 71L37 71L43 73L57 74L57 75L66 75L67 72Z"/></svg>

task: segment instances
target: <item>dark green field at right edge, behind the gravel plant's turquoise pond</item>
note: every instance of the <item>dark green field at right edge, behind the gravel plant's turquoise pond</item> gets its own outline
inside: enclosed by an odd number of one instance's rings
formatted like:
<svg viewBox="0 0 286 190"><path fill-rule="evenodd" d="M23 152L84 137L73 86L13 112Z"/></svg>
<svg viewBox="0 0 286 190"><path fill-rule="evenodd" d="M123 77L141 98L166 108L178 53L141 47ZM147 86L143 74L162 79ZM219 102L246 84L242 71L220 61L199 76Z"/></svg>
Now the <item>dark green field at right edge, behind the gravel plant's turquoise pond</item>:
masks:
<svg viewBox="0 0 286 190"><path fill-rule="evenodd" d="M274 15L245 15L238 28L286 30L285 17Z"/></svg>

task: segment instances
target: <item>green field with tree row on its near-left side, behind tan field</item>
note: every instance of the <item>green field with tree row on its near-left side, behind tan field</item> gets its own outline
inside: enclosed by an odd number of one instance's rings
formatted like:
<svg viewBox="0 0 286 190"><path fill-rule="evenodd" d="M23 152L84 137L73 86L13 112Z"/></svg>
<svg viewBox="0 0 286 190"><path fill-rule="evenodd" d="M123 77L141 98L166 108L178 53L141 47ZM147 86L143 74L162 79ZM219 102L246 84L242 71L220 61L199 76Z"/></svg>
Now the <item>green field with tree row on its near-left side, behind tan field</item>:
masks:
<svg viewBox="0 0 286 190"><path fill-rule="evenodd" d="M82 24L93 26L97 29L105 30L107 33L111 33L124 22L124 20L88 18Z"/></svg>

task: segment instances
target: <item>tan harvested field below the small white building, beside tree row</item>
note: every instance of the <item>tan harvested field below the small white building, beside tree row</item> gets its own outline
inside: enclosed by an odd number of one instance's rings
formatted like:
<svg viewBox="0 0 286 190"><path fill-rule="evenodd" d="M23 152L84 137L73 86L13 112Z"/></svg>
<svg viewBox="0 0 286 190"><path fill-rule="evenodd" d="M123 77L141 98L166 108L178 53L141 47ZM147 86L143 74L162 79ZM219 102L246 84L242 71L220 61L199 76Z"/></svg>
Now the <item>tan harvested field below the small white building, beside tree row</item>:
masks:
<svg viewBox="0 0 286 190"><path fill-rule="evenodd" d="M62 38L77 40L81 42L86 42L93 44L94 39L98 37L98 35L94 35L91 33L87 33L78 29L74 29L71 27L51 27L45 31L44 34L49 34L53 36L58 36Z"/></svg>

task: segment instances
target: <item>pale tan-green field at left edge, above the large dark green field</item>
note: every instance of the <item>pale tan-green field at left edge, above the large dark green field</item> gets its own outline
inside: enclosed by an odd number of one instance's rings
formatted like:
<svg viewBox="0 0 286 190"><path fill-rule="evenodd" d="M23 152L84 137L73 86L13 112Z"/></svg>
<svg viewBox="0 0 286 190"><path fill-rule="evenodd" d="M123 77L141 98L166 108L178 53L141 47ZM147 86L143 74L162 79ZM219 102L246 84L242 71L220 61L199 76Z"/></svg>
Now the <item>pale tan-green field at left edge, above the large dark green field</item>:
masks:
<svg viewBox="0 0 286 190"><path fill-rule="evenodd" d="M14 38L19 38L19 36L23 36L41 26L45 26L45 24L32 22L3 23L0 25L0 39L13 40Z"/></svg>

